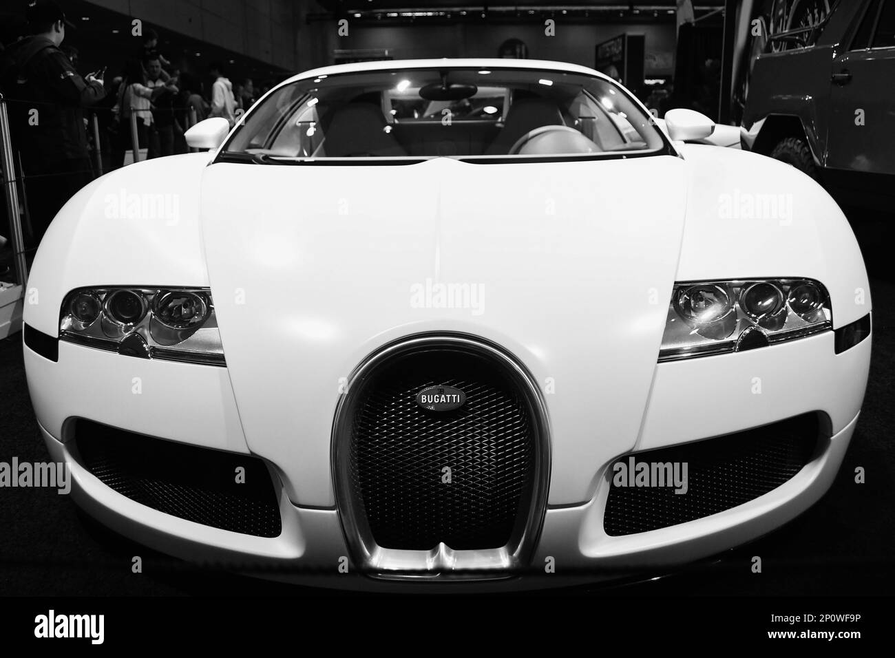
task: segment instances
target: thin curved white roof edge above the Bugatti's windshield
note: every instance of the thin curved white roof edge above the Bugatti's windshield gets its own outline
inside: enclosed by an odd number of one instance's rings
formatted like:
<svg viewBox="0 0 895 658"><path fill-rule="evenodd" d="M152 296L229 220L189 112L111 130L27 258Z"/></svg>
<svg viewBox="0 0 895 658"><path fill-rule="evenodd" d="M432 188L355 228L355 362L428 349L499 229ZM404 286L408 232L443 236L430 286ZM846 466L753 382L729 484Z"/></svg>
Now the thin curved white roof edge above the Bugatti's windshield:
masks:
<svg viewBox="0 0 895 658"><path fill-rule="evenodd" d="M377 62L334 64L332 66L323 66L321 68L298 73L288 80L281 82L277 87L297 80L317 78L320 77L320 75L360 73L363 71L388 71L389 69L431 69L445 65L456 67L480 67L482 69L534 69L541 71L557 71L560 73L581 73L594 78L610 80L609 76L604 75L603 73L599 73L598 71L594 71L593 69L579 64L569 64L568 62L550 62L541 59L499 59L496 57L479 59L450 59L448 57L443 57L441 59L388 59Z"/></svg>

